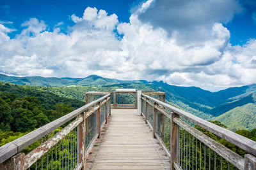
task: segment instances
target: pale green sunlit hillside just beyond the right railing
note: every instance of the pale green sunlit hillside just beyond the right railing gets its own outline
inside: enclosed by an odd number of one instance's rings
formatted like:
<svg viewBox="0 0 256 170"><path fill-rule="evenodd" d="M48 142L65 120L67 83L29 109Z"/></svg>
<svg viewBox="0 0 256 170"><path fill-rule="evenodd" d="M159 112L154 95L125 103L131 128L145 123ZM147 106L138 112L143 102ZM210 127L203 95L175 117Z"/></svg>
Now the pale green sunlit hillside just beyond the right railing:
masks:
<svg viewBox="0 0 256 170"><path fill-rule="evenodd" d="M219 117L212 118L212 120L218 120L221 124L227 125L231 131L238 129L252 131L256 128L256 104L244 104L223 113Z"/></svg>

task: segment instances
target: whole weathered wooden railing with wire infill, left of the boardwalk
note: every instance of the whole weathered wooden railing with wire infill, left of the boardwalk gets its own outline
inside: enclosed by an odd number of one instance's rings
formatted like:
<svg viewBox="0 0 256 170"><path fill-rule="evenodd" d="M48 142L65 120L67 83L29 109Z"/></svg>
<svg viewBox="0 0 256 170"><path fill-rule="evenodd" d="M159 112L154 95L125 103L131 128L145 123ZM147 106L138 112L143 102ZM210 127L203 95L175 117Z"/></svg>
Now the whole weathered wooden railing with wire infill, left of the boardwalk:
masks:
<svg viewBox="0 0 256 170"><path fill-rule="evenodd" d="M111 114L110 94L100 95L99 99L2 146L0 169L85 168L86 157ZM66 126L52 134L63 125ZM51 138L47 138L49 134ZM44 143L31 152L22 153L24 148L45 138Z"/></svg>

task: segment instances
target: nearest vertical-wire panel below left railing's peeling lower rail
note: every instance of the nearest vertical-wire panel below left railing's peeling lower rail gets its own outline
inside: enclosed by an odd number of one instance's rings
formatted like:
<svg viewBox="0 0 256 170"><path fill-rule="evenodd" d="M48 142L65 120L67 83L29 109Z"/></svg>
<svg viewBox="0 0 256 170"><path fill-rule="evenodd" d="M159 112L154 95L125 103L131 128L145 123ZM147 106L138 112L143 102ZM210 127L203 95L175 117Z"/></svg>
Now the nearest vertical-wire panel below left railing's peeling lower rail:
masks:
<svg viewBox="0 0 256 170"><path fill-rule="evenodd" d="M76 127L28 169L75 169L78 162Z"/></svg>

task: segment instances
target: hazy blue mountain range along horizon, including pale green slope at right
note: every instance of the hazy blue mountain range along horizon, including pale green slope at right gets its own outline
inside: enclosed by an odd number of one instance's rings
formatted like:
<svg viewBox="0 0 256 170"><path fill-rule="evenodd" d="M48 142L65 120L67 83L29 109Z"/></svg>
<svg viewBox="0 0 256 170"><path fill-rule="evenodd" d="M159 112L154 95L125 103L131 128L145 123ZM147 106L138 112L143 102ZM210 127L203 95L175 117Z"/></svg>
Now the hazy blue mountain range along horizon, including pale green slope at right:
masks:
<svg viewBox="0 0 256 170"><path fill-rule="evenodd" d="M198 87L169 85L163 81L116 80L97 75L86 78L44 78L40 76L17 77L0 74L0 81L42 87L100 86L159 90L166 93L168 103L189 111L198 117L207 120L219 120L232 131L256 128L256 84L209 92ZM49 90L51 91L51 88Z"/></svg>

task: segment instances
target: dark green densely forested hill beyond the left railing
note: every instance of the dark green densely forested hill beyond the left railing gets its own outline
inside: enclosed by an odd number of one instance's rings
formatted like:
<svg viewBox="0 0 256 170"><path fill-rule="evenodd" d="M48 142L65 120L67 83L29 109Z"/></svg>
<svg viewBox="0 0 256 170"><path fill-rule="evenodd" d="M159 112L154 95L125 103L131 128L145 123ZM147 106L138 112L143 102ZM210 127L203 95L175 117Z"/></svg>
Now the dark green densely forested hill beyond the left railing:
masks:
<svg viewBox="0 0 256 170"><path fill-rule="evenodd" d="M0 82L0 132L33 131L83 105L35 87Z"/></svg>

